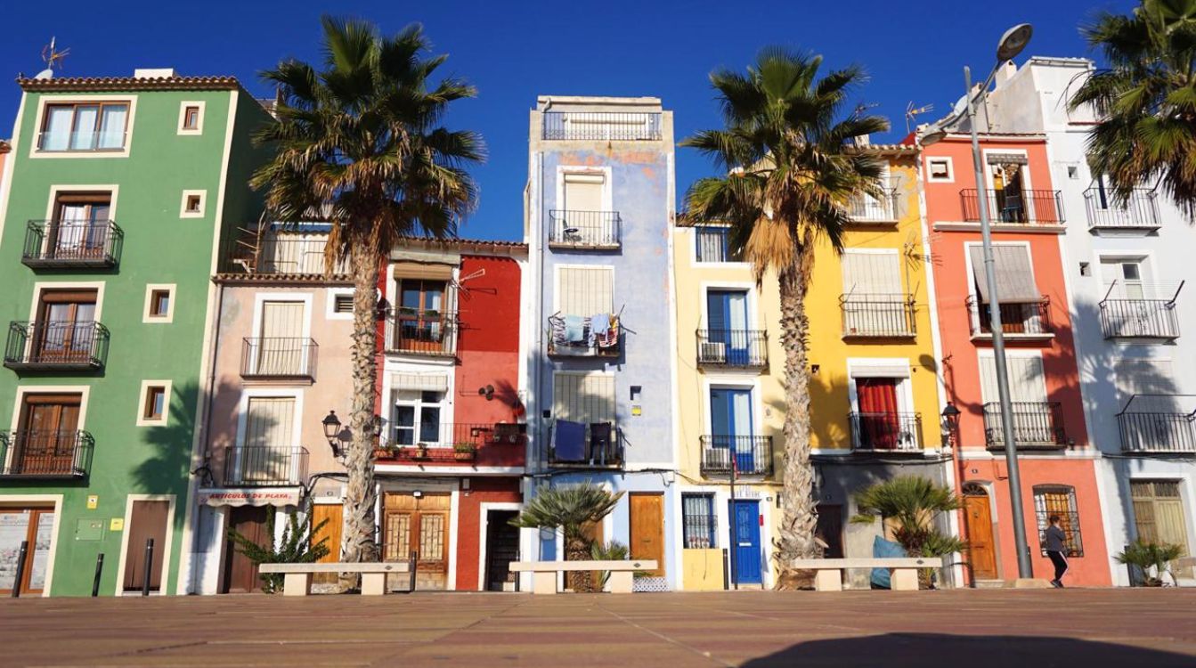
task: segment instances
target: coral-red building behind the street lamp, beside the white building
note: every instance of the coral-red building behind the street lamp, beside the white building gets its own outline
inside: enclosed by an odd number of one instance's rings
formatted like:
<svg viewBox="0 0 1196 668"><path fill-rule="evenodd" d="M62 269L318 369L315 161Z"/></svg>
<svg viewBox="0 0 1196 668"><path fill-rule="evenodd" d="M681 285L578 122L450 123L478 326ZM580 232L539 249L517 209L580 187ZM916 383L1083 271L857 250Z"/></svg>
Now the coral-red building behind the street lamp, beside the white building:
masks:
<svg viewBox="0 0 1196 668"><path fill-rule="evenodd" d="M1018 577L1008 466L989 326L980 233L988 194L997 300L1008 358L1019 491L1033 575L1054 571L1041 532L1058 515L1070 549L1069 584L1107 585L1109 559L1097 491L1098 451L1088 442L1060 237L1068 212L1051 182L1046 140L983 135L984 181L976 183L970 136L923 148L934 299L947 400L962 412L954 432L962 538L976 579Z"/></svg>

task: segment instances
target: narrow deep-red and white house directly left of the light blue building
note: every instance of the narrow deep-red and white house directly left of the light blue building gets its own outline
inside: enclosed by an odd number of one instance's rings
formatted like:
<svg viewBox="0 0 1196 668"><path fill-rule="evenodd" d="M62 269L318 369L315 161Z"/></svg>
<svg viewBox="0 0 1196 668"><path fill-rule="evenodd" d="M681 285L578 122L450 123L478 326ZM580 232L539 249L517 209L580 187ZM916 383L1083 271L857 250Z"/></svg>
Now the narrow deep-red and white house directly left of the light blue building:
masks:
<svg viewBox="0 0 1196 668"><path fill-rule="evenodd" d="M512 587L526 259L517 243L410 239L380 280L378 538L384 560L416 553L417 589Z"/></svg>

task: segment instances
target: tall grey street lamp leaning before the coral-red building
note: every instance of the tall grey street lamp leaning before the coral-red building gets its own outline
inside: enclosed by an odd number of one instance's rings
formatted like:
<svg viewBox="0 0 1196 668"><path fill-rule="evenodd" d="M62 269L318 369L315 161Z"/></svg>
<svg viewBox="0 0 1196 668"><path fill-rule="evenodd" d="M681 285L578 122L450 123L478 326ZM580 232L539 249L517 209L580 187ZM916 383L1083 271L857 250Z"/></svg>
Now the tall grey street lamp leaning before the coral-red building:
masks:
<svg viewBox="0 0 1196 668"><path fill-rule="evenodd" d="M972 95L971 69L964 67L964 97L966 104L964 111L968 114L968 126L971 129L972 140L972 168L976 170L976 196L980 206L980 233L984 250L984 283L988 286L988 314L990 329L993 330L993 358L996 366L996 390L1001 402L1001 436L1005 438L1005 461L1009 472L1009 506L1013 511L1013 542L1018 553L1018 577L1033 577L1033 566L1030 563L1030 547L1026 542L1025 512L1021 508L1021 474L1018 467L1018 445L1013 436L1013 401L1009 397L1009 374L1005 357L1005 333L1001 329L1001 305L996 292L996 269L993 259L993 231L989 224L988 213L988 189L984 182L984 165L980 153L980 133L976 128L976 108L988 95L988 86L996 77L996 72L1008 61L1017 57L1026 44L1033 28L1029 23L1014 25L1005 31L996 47L996 65L989 72L980 91ZM959 113L940 121L928 128L922 134L922 144L934 144L947 135L947 127L959 120Z"/></svg>

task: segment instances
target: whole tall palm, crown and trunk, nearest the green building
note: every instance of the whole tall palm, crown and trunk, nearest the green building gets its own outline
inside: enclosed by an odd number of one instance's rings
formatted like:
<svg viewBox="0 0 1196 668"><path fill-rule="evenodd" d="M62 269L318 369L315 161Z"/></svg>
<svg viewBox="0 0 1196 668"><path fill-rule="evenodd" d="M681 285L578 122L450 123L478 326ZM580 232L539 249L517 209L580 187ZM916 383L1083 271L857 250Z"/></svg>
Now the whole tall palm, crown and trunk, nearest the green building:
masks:
<svg viewBox="0 0 1196 668"><path fill-rule="evenodd" d="M283 223L327 219L325 272L348 259L353 298L352 442L346 448L344 561L376 561L376 286L383 259L405 236L454 236L477 190L465 168L483 159L481 138L439 123L453 101L474 97L453 78L432 81L447 56L427 56L419 25L393 37L359 20L322 19L324 62L286 60L263 73L279 89L276 122L255 140L276 151L252 177Z"/></svg>

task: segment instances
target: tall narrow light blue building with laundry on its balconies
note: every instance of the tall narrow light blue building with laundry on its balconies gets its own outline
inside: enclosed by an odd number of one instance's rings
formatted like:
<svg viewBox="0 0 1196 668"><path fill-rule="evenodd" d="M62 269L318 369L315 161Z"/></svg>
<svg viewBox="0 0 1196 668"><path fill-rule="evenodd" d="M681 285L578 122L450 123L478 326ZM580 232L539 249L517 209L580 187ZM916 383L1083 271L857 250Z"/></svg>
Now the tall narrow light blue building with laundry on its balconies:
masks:
<svg viewBox="0 0 1196 668"><path fill-rule="evenodd" d="M659 98L549 97L531 111L523 314L539 485L627 492L598 535L658 559L640 589L678 589L672 114ZM526 532L525 560L563 558Z"/></svg>

